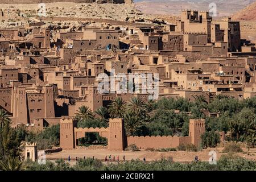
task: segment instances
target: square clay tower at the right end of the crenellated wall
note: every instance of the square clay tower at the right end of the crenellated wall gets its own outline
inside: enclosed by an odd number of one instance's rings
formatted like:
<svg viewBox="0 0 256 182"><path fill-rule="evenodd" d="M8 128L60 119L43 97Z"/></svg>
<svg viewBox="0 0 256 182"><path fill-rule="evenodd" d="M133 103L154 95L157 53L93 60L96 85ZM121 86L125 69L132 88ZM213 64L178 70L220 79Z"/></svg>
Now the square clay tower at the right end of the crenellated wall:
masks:
<svg viewBox="0 0 256 182"><path fill-rule="evenodd" d="M200 146L203 133L205 133L205 119L189 119L189 137L196 147Z"/></svg>

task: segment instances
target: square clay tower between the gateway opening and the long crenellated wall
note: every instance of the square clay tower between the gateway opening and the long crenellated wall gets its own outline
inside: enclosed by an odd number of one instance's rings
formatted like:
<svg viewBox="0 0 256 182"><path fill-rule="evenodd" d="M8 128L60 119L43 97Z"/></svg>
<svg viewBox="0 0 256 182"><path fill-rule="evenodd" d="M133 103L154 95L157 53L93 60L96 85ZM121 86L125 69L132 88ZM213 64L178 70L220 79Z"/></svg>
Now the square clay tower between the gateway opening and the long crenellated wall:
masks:
<svg viewBox="0 0 256 182"><path fill-rule="evenodd" d="M109 150L123 150L125 148L125 127L123 119L109 119Z"/></svg>

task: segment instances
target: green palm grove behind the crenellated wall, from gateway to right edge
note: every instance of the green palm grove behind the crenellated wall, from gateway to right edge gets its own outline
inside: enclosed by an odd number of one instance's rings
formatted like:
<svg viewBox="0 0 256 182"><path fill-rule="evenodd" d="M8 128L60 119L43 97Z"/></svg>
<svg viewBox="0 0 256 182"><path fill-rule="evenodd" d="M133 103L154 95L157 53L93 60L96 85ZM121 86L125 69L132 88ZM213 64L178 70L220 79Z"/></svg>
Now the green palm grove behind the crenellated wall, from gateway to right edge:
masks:
<svg viewBox="0 0 256 182"><path fill-rule="evenodd" d="M201 110L205 109L220 112L220 117L204 115ZM174 110L180 110L180 113L177 114ZM201 136L201 147L215 147L220 142L218 131L228 133L228 140L246 142L251 146L256 142L256 97L235 100L218 95L209 104L204 97L199 97L194 102L184 98L162 98L156 102L144 102L137 97L125 102L117 97L108 109L100 107L95 113L82 106L76 117L79 127L108 127L109 118L124 118L128 136L187 136L189 118L205 118L206 132Z"/></svg>

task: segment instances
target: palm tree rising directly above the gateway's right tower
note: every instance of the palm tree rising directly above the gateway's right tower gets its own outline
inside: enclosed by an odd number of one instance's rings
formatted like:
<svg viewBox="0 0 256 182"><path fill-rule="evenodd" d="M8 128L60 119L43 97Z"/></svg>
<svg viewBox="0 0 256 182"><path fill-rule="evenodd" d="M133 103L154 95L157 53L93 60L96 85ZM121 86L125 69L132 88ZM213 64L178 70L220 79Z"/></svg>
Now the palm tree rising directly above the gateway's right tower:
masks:
<svg viewBox="0 0 256 182"><path fill-rule="evenodd" d="M111 118L123 118L126 109L126 102L121 97L116 97L109 105L109 114Z"/></svg>

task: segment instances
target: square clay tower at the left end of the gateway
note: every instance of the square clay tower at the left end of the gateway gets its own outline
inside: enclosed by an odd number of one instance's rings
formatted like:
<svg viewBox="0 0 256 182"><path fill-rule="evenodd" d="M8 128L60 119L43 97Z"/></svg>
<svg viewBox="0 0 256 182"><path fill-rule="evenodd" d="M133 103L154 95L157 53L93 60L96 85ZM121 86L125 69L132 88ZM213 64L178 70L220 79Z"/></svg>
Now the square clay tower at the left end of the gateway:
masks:
<svg viewBox="0 0 256 182"><path fill-rule="evenodd" d="M74 127L76 121L72 117L63 117L60 120L60 147L63 149L75 148Z"/></svg>

